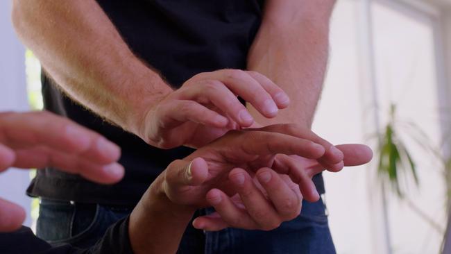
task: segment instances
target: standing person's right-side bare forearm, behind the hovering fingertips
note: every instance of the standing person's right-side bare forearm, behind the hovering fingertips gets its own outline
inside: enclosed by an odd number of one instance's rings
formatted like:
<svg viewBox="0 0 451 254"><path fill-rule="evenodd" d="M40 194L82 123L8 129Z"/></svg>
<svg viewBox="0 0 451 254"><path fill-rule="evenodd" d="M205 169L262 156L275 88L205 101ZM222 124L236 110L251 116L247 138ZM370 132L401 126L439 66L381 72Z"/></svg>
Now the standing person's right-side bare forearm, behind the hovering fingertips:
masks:
<svg viewBox="0 0 451 254"><path fill-rule="evenodd" d="M329 19L334 1L280 4L288 2L269 1L248 55L248 69L271 78L291 100L289 108L274 119L259 117L248 105L257 123L264 126L279 123L311 126L327 66Z"/></svg>

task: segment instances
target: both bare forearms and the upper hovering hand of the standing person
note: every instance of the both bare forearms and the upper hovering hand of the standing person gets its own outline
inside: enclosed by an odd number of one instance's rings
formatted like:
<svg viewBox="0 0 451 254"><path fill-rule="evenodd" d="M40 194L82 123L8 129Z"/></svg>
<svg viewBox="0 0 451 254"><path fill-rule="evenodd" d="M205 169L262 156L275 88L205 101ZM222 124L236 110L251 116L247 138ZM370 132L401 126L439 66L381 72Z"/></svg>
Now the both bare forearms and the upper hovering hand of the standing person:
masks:
<svg viewBox="0 0 451 254"><path fill-rule="evenodd" d="M268 1L249 71L198 74L175 91L128 49L94 0L13 3L19 37L62 90L153 146L200 147L255 120L258 126L312 122L327 62L332 0ZM248 109L232 96L246 99ZM287 109L280 115L282 108ZM191 113L168 119L168 110Z"/></svg>

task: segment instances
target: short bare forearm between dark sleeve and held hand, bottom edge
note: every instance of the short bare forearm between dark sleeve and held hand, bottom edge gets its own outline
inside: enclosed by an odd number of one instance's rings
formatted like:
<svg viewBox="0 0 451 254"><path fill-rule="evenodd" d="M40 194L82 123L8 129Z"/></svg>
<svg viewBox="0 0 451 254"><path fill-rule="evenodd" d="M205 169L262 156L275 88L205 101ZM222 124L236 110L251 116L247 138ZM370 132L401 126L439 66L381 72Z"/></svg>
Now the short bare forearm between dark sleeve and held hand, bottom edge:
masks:
<svg viewBox="0 0 451 254"><path fill-rule="evenodd" d="M158 180L157 180L158 181ZM177 205L154 186L130 215L128 231L135 254L176 253L194 208Z"/></svg>

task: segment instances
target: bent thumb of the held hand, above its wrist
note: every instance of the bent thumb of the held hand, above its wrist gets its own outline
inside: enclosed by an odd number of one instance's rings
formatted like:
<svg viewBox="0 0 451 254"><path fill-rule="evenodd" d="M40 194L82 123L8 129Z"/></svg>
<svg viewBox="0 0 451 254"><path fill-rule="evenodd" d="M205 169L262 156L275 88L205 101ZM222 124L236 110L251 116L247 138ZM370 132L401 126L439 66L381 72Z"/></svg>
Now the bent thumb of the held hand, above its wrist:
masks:
<svg viewBox="0 0 451 254"><path fill-rule="evenodd" d="M192 161L175 160L166 172L166 182L175 186L197 186L201 185L208 176L208 165L203 158L195 158Z"/></svg>

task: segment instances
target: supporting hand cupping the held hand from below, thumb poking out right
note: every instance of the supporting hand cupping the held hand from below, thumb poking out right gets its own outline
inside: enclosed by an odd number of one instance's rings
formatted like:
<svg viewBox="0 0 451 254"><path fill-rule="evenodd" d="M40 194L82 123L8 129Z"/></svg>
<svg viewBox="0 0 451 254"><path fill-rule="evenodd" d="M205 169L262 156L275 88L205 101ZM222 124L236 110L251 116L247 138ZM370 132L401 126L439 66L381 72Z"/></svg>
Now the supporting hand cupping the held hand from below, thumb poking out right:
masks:
<svg viewBox="0 0 451 254"><path fill-rule="evenodd" d="M337 148L344 154L346 167L366 164L373 156L371 149L361 144L342 144ZM198 217L194 226L210 231L228 227L272 230L299 215L303 194L309 196L308 201L318 201L312 178L325 169L316 160L278 154L273 168L278 172L269 168L255 174L243 169L230 171L229 179L237 194L229 197L220 189L207 192L207 201L216 212Z"/></svg>

